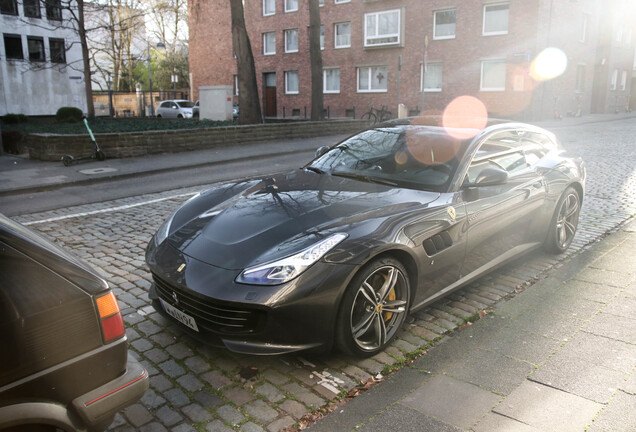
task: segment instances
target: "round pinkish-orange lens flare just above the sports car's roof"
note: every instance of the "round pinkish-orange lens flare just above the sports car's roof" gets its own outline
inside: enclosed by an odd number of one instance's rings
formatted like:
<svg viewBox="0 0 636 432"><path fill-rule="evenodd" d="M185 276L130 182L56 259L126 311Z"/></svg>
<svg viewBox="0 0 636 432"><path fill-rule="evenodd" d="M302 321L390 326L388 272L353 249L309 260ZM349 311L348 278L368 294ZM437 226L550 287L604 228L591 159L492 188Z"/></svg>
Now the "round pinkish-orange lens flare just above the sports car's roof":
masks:
<svg viewBox="0 0 636 432"><path fill-rule="evenodd" d="M442 115L442 126L446 133L457 139L474 137L487 123L486 105L473 96L456 97Z"/></svg>

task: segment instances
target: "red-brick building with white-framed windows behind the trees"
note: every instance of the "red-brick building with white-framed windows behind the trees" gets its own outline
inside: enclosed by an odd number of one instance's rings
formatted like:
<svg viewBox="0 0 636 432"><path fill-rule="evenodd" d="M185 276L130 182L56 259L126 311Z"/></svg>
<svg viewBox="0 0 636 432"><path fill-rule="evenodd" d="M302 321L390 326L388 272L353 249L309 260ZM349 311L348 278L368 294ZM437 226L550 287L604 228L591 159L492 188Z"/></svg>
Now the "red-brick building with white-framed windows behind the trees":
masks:
<svg viewBox="0 0 636 432"><path fill-rule="evenodd" d="M631 87L630 3L323 0L325 108L331 117L359 117L370 104L440 111L470 95L499 117L612 111ZM309 116L307 0L244 5L264 114ZM541 54L549 47L558 50ZM234 84L227 0L190 2L190 72L195 96Z"/></svg>

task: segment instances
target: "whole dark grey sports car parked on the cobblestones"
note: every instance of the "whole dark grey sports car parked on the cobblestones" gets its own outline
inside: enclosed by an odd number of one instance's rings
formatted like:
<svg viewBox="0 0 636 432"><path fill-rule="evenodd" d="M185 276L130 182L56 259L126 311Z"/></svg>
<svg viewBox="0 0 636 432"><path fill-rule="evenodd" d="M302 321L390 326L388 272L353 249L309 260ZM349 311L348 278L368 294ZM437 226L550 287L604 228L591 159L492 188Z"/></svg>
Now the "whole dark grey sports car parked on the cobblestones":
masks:
<svg viewBox="0 0 636 432"><path fill-rule="evenodd" d="M407 313L576 232L585 166L519 124L385 124L184 204L146 260L155 308L242 353L368 356Z"/></svg>

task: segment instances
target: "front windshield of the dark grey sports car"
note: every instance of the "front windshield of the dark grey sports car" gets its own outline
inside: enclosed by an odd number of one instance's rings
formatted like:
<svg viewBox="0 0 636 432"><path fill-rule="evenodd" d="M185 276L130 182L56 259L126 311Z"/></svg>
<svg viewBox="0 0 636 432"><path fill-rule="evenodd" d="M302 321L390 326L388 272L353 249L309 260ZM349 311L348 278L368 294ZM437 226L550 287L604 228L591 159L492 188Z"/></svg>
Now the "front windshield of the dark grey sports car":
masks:
<svg viewBox="0 0 636 432"><path fill-rule="evenodd" d="M338 144L306 168L361 181L443 192L457 170L462 148L462 141L442 128L377 128Z"/></svg>

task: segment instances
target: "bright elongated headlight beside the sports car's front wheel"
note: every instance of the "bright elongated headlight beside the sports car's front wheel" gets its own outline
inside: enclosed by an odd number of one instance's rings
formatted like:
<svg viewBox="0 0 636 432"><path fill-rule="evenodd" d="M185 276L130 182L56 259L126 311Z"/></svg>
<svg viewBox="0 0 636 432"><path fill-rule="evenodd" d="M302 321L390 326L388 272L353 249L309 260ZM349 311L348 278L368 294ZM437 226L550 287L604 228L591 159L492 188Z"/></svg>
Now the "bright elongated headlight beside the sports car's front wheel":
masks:
<svg viewBox="0 0 636 432"><path fill-rule="evenodd" d="M333 234L295 255L247 268L236 278L236 281L250 285L278 285L289 282L346 238L347 234L344 233Z"/></svg>

